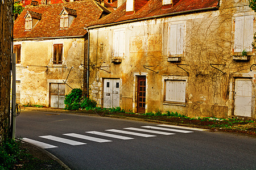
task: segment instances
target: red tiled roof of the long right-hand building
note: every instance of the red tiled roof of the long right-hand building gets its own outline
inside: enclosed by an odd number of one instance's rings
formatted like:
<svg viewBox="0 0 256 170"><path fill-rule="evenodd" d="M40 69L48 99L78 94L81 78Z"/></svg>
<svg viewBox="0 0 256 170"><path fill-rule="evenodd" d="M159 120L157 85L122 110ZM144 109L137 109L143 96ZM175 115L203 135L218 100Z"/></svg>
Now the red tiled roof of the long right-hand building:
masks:
<svg viewBox="0 0 256 170"><path fill-rule="evenodd" d="M104 18L91 23L93 25L104 25L109 23L121 22L125 20L147 18L150 16L158 16L171 14L175 12L198 10L208 7L217 7L219 0L180 0L173 7L162 10L162 0L149 0L146 5L136 11L133 15L126 15L126 2L117 10Z"/></svg>

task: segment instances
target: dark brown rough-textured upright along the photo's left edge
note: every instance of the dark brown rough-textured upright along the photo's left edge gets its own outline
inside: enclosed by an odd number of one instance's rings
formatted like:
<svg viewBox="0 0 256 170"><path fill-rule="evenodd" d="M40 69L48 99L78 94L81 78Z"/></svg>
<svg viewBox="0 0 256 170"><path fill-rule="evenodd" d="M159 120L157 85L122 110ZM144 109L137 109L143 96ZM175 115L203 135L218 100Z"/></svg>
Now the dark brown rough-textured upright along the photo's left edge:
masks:
<svg viewBox="0 0 256 170"><path fill-rule="evenodd" d="M6 138L10 125L11 84L11 3L0 1L0 141Z"/></svg>

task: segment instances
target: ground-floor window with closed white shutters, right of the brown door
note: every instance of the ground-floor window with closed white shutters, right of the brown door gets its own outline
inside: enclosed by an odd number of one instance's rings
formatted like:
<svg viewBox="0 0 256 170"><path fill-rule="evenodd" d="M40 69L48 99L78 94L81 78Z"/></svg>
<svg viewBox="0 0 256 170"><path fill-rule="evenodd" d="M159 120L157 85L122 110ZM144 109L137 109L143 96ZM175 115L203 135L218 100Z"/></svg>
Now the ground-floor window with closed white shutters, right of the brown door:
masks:
<svg viewBox="0 0 256 170"><path fill-rule="evenodd" d="M165 100L171 102L185 103L185 80L165 80Z"/></svg>

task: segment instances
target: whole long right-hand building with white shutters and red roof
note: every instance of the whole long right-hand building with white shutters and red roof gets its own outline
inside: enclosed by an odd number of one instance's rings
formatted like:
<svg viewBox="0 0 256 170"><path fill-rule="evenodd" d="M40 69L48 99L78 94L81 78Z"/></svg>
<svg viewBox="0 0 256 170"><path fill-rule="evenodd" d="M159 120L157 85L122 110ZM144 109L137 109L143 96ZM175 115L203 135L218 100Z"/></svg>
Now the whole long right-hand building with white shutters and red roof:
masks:
<svg viewBox="0 0 256 170"><path fill-rule="evenodd" d="M256 118L255 26L247 0L127 0L88 25L90 97L135 113Z"/></svg>

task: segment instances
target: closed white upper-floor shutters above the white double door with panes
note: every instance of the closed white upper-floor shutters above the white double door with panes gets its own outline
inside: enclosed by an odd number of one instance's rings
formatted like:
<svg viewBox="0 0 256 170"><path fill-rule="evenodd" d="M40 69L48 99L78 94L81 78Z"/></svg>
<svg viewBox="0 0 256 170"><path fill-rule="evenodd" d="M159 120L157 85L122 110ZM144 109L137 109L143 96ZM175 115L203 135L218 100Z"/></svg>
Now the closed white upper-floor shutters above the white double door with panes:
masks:
<svg viewBox="0 0 256 170"><path fill-rule="evenodd" d="M125 54L125 30L113 31L113 57L122 57Z"/></svg>

